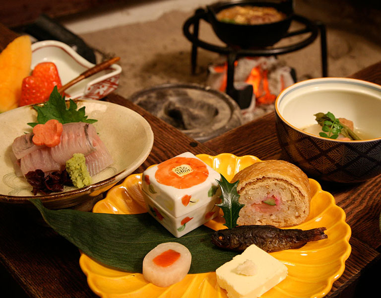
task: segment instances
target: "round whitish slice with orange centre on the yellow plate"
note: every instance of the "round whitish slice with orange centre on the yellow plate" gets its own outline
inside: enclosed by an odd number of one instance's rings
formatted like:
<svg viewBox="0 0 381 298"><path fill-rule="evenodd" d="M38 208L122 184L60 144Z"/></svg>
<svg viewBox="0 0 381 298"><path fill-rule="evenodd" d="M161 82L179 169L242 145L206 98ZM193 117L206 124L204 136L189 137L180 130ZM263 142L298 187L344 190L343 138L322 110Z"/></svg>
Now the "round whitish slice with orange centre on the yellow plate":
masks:
<svg viewBox="0 0 381 298"><path fill-rule="evenodd" d="M191 260L191 252L183 244L161 243L144 257L143 277L158 287L171 286L186 277Z"/></svg>

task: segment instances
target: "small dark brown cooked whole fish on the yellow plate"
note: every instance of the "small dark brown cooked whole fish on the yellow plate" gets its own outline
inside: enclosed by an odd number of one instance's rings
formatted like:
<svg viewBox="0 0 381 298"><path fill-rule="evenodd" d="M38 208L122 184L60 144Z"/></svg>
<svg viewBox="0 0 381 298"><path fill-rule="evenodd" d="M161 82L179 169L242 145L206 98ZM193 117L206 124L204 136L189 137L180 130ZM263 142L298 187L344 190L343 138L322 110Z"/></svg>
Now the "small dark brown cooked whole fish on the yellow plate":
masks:
<svg viewBox="0 0 381 298"><path fill-rule="evenodd" d="M273 225L240 225L221 229L212 234L212 243L218 247L244 251L255 244L266 252L300 248L310 241L325 239L325 227L302 229L281 229Z"/></svg>

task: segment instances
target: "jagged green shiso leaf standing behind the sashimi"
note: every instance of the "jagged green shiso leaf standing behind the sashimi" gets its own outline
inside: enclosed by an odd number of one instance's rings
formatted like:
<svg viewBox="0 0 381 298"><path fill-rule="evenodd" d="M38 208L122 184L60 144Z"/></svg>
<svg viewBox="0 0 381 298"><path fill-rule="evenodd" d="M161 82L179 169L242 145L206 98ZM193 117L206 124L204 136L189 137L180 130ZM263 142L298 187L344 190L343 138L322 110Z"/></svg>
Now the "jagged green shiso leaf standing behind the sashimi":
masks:
<svg viewBox="0 0 381 298"><path fill-rule="evenodd" d="M51 119L56 119L62 124L71 122L97 122L95 119L87 119L85 116L85 107L77 110L77 104L69 99L69 107L66 107L65 97L58 92L57 86L54 87L49 96L49 100L42 106L33 107L37 111L37 123L28 123L31 127L37 124L44 124Z"/></svg>

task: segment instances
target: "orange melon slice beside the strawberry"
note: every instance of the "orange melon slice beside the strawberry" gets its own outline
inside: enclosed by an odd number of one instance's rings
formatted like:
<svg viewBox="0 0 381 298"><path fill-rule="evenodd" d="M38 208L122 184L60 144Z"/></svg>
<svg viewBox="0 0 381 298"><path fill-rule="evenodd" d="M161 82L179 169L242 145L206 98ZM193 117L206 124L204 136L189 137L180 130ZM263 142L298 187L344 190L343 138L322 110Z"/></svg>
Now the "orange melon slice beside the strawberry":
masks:
<svg viewBox="0 0 381 298"><path fill-rule="evenodd" d="M32 49L27 35L14 39L0 53L0 112L17 108L22 79L30 73Z"/></svg>

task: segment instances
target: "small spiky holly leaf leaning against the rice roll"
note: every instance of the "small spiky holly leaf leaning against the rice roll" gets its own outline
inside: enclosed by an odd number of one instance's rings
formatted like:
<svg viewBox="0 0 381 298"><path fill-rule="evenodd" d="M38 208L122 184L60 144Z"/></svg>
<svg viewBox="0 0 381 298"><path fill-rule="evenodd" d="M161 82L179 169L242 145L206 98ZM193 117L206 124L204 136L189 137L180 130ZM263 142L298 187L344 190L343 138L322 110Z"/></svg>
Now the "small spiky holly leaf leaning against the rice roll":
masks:
<svg viewBox="0 0 381 298"><path fill-rule="evenodd" d="M244 204L240 204L238 199L240 195L237 193L237 184L239 180L234 183L229 183L224 176L221 175L221 181L217 183L221 188L221 204L216 204L224 212L225 224L228 228L237 226L237 219L240 216L240 210Z"/></svg>

